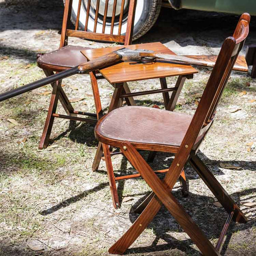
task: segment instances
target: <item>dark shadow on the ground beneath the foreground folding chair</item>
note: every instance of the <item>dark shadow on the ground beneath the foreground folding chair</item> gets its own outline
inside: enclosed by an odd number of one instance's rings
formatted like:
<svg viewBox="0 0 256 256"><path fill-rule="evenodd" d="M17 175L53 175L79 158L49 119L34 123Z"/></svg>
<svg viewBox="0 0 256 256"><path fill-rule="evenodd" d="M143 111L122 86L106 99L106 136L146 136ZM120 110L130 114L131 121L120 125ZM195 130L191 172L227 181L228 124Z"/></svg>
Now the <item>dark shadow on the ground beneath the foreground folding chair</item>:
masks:
<svg viewBox="0 0 256 256"><path fill-rule="evenodd" d="M240 196L248 195L252 192L256 192L256 189L247 189L239 192L231 194L231 197L236 198L235 201L240 205ZM219 208L214 206L212 203L213 198L208 196L196 195L190 192L189 197L187 199L183 198L180 191L173 192L175 198L178 199L179 203L185 208L185 210L190 214L192 219L198 224L199 227L203 230L205 235L210 238L219 238L221 230L224 226L224 223L228 217L228 214L223 208ZM146 199L146 194L143 198L136 202L135 205L131 207L129 212L129 218L133 223L139 214L135 213L134 210L137 206ZM253 211L251 209L251 211ZM248 211L247 211L248 212ZM229 242L231 240L232 234L237 231L242 231L246 229L250 229L254 227L256 224L256 219L249 219L246 224L236 225L235 222L231 222L229 229L226 234L226 239L223 243L221 249L221 255L225 255ZM147 247L131 247L126 251L126 254L130 253L148 253L155 251L164 251L170 249L178 249L183 251L184 253L188 253L189 255L201 255L199 251L195 250L191 247L193 242L191 239L183 239L174 238L168 232L177 232L181 233L183 230L177 224L174 217L170 214L170 212L163 206L158 214L155 216L153 221L149 224L147 229L152 229L155 235L155 240L152 242L150 246ZM159 240L164 240L166 244L157 245Z"/></svg>

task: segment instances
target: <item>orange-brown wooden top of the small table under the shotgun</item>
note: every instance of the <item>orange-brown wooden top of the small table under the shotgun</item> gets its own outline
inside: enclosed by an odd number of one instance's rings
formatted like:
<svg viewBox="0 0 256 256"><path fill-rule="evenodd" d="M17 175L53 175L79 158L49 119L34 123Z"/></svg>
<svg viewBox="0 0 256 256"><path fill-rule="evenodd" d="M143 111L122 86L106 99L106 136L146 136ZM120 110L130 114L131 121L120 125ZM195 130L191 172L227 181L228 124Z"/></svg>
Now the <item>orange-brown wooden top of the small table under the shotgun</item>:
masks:
<svg viewBox="0 0 256 256"><path fill-rule="evenodd" d="M116 51L124 46L95 48L82 50L82 54L88 60L93 60L102 55ZM125 46L128 49L147 49L161 54L174 54L170 49L160 42L146 43L138 45ZM175 55L175 54L174 54ZM197 73L198 71L191 65L170 64L170 63L154 63L154 64L136 64L130 65L128 62L121 62L113 66L103 68L100 73L110 83L121 83L138 80L147 80L153 78L161 78L168 76L187 75Z"/></svg>

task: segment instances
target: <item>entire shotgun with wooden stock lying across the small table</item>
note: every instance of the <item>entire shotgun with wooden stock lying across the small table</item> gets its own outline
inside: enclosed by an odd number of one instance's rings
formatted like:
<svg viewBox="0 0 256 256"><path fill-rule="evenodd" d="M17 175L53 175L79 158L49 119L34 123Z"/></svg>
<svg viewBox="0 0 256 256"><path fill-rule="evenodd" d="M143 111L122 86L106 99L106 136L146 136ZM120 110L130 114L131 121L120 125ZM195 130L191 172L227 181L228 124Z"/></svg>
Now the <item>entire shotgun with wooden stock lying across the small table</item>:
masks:
<svg viewBox="0 0 256 256"><path fill-rule="evenodd" d="M42 78L38 81L28 83L17 89L4 92L0 94L0 101L4 101L15 97L19 94L25 93L27 91L35 90L46 84L62 80L66 77L72 76L74 74L84 74L91 71L100 70L108 66L115 65L119 62L126 61L132 62L131 64L149 64L155 62L164 62L172 64L185 64L185 65L197 65L197 66L207 66L213 67L216 61L216 56L179 56L179 55L169 55L169 54L159 54L153 51L137 49L131 50L121 48L117 51L111 52L107 55L103 55L95 60L88 61L84 64L75 66L71 69L56 73L54 75ZM247 64L245 60L241 57L238 58L233 70L247 72Z"/></svg>

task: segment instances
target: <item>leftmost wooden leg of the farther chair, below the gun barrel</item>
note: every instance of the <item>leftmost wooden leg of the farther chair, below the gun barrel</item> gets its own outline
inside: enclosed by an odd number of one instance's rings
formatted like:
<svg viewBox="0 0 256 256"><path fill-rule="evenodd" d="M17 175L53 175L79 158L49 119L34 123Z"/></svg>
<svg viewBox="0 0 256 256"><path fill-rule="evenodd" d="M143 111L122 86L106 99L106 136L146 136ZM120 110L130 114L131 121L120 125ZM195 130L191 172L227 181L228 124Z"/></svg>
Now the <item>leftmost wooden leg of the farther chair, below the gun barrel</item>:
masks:
<svg viewBox="0 0 256 256"><path fill-rule="evenodd" d="M39 149L46 148L49 144L50 134L53 128L54 117L53 114L56 112L58 99L59 99L59 88L61 87L59 81L55 82L53 86L53 92L51 101L46 117L45 127L39 142Z"/></svg>

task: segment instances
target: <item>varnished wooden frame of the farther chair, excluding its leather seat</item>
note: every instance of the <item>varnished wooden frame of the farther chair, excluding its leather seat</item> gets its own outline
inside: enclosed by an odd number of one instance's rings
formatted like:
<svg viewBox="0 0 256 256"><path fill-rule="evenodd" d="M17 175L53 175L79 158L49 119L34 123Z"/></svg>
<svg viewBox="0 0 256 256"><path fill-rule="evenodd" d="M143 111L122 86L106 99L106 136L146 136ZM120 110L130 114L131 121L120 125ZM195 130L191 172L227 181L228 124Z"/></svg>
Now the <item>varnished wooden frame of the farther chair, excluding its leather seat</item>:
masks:
<svg viewBox="0 0 256 256"><path fill-rule="evenodd" d="M107 20L108 2L109 2L109 0L105 1L105 10L104 10L104 18L103 18L104 24L102 27L103 33L93 33L93 32L88 31L91 0L87 0L87 11L86 11L87 15L86 15L86 20L85 20L85 26L83 29L84 31L79 30L79 29L82 29L79 27L79 19L80 19L80 13L81 13L81 5L82 5L83 1L82 0L78 1L78 10L77 10L77 18L76 18L75 27L74 27L74 29L69 29L70 22L71 22L71 12L72 12L73 0L65 0L60 48L62 48L63 46L66 46L68 44L68 37L82 37L82 38L91 39L91 40L118 42L118 43L126 44L126 45L131 44L136 0L129 1L129 13L128 13L128 20L127 20L128 23L127 23L127 30L126 30L125 36L106 35L104 33L105 26L106 26L106 20ZM95 20L94 20L94 32L96 32L96 29L97 29L97 18L99 15L99 5L100 5L100 0L97 0L96 15L95 15ZM115 8L114 9L116 9L116 5L117 5L117 1L115 0ZM123 10L121 10L121 11L123 12ZM112 20L114 21L114 17L112 18ZM112 22L112 24L114 25L113 22ZM111 29L111 31L112 31L111 34L113 34L113 29ZM61 72L61 71L64 71L64 70L67 70L70 68L67 66L58 66L58 65L53 65L53 64L39 64L39 62L38 62L38 66L40 66L42 69L44 69L45 73L53 73L53 71ZM98 84L97 84L97 79L96 79L95 73L91 73L91 81L92 81L92 91L94 94L94 101L96 104L97 118L99 119L103 115L103 113L102 113L101 101L99 98L99 90L98 90ZM76 116L76 114L73 112L74 109L73 109L70 101L68 100L68 97L66 96L66 94L64 93L64 91L61 87L58 89L57 95L55 95L54 97L55 97L55 99L59 99L61 101L61 103L64 107L64 110L66 111L66 113L69 116L71 116L71 117ZM132 100L132 98L129 98L129 99ZM57 102L55 102L55 104L57 104ZM54 104L54 106L55 106L55 104ZM56 106L55 106L55 108L56 108ZM39 145L40 148L46 147L46 145L48 145L48 143L49 143L49 136L51 133L52 123L54 121L54 117L52 116L54 111L52 111L52 110L53 109L50 106L49 110L48 110L50 118L49 117L46 118L45 128L44 128L41 140L40 140L40 145ZM80 114L80 113L78 113L78 114ZM79 118L79 119L82 120L82 118Z"/></svg>

